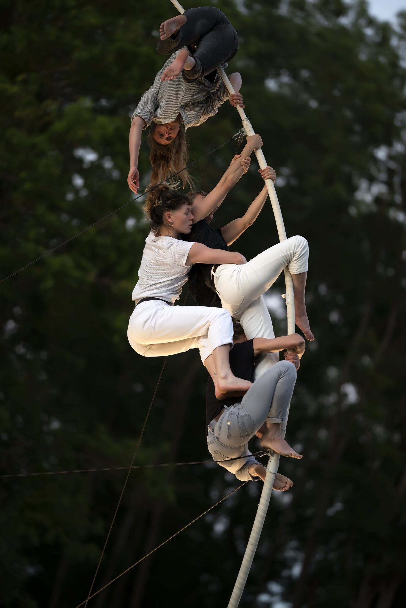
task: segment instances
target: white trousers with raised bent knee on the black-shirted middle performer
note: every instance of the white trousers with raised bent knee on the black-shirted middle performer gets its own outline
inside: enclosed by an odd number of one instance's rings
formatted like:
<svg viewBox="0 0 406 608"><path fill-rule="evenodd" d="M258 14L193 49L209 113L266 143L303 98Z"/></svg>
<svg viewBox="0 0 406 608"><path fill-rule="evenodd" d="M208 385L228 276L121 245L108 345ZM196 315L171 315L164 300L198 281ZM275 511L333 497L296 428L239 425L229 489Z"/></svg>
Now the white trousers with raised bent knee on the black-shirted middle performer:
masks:
<svg viewBox="0 0 406 608"><path fill-rule="evenodd" d="M309 246L304 237L287 238L257 255L247 264L222 264L214 285L222 306L238 319L250 340L273 338L273 326L264 294L287 266L291 274L307 271ZM255 379L279 361L279 353L268 353L255 367Z"/></svg>

